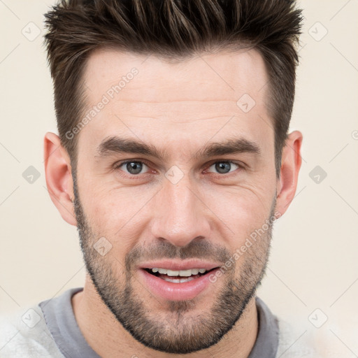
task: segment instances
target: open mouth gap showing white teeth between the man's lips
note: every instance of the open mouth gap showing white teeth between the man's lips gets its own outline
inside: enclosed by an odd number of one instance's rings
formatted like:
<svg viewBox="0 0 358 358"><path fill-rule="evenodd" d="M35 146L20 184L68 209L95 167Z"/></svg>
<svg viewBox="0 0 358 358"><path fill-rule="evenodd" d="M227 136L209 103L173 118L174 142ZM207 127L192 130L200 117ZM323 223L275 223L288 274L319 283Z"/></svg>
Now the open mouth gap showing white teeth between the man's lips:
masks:
<svg viewBox="0 0 358 358"><path fill-rule="evenodd" d="M189 282L201 276L207 275L213 270L216 270L218 267L212 268L210 270L206 270L205 268L192 268L189 270L181 270L181 271L172 271L166 268L144 268L145 271L150 273L151 275L155 275L158 278L162 278L162 280L166 282L173 283L182 283Z"/></svg>

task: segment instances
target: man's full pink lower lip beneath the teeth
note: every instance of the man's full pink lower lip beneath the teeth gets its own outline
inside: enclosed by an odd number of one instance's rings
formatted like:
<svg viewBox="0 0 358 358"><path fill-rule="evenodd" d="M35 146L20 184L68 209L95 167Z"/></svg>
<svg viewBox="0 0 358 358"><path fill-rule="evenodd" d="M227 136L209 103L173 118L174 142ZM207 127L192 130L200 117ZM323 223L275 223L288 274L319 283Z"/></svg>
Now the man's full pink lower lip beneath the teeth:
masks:
<svg viewBox="0 0 358 358"><path fill-rule="evenodd" d="M145 271L143 268L139 269L139 273L141 277L143 277L145 284L150 288L150 291L156 296L171 301L183 301L194 299L194 297L206 289L206 287L212 283L209 280L209 276L215 274L218 269L219 268L215 268L215 270L212 270L199 278L194 278L194 280L180 283L163 280L162 278Z"/></svg>

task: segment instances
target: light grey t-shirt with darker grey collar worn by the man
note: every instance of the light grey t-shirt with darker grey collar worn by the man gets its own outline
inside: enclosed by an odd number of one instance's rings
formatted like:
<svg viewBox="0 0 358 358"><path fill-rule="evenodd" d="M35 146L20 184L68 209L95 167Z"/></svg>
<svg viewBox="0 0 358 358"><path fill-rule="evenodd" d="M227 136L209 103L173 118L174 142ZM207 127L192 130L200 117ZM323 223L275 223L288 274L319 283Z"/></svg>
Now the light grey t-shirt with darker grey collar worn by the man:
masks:
<svg viewBox="0 0 358 358"><path fill-rule="evenodd" d="M76 322L71 297L82 287L69 289L54 299L42 301L23 310L12 323L0 323L1 358L101 358L85 340ZM289 335L279 329L279 322L266 304L256 298L259 319L257 340L248 358L276 358L289 348ZM280 341L280 346L279 346ZM304 348L305 355L309 350ZM299 350L298 354L303 353ZM291 357L285 355L285 357ZM299 357L299 355L292 355Z"/></svg>

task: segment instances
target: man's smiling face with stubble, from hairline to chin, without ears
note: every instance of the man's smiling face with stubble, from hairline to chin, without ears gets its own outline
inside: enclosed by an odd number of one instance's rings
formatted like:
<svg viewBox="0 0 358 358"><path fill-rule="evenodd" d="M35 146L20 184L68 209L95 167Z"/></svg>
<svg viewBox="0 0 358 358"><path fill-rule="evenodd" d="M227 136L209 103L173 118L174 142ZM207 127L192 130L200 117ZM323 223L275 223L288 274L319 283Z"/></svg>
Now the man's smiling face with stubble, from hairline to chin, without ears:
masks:
<svg viewBox="0 0 358 358"><path fill-rule="evenodd" d="M255 294L277 189L267 82L255 50L180 63L101 50L88 61L95 113L76 134L81 246L101 299L144 345L208 348ZM237 150L220 151L228 143Z"/></svg>

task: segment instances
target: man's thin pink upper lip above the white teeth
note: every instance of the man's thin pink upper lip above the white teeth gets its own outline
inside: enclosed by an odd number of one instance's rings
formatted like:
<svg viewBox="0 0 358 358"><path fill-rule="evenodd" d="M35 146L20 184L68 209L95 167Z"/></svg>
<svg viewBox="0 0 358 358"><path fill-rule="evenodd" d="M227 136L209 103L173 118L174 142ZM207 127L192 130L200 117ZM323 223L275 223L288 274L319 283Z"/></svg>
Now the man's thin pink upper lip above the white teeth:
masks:
<svg viewBox="0 0 358 358"><path fill-rule="evenodd" d="M139 268L166 268L167 270L180 271L180 270L189 270L191 268L205 268L206 271L209 271L213 268L219 267L221 264L215 262L208 262L199 259L188 259L188 260L157 260L144 262L139 265Z"/></svg>

